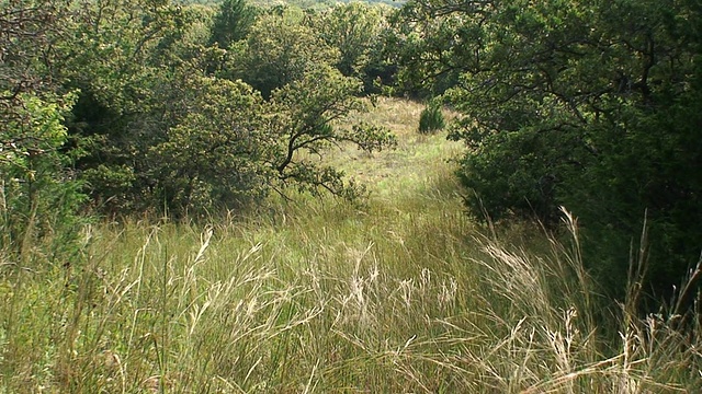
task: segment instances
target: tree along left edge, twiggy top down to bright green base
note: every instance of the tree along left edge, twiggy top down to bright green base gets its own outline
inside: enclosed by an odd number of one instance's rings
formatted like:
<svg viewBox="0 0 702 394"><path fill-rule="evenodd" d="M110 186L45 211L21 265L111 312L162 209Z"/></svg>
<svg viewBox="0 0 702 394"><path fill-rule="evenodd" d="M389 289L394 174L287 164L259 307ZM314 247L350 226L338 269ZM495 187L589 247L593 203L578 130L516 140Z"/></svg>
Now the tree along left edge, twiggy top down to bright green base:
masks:
<svg viewBox="0 0 702 394"><path fill-rule="evenodd" d="M70 244L82 201L69 171L64 116L73 94L49 78L65 34L68 7L54 1L7 1L0 10L0 243L26 247L53 231L53 255ZM26 255L23 255L23 262Z"/></svg>

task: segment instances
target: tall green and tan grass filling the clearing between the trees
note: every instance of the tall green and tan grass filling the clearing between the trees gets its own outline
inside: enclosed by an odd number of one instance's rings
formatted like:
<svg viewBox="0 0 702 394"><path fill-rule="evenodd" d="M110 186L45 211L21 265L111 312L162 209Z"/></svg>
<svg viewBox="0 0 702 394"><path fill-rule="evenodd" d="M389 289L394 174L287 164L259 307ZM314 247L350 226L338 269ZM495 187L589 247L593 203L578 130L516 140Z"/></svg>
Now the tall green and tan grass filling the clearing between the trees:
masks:
<svg viewBox="0 0 702 394"><path fill-rule="evenodd" d="M3 254L0 393L698 392L700 327L603 312L575 220L565 244L474 224L461 146L416 134L420 111L381 100L362 116L397 149L332 153L364 204L93 224L65 264Z"/></svg>

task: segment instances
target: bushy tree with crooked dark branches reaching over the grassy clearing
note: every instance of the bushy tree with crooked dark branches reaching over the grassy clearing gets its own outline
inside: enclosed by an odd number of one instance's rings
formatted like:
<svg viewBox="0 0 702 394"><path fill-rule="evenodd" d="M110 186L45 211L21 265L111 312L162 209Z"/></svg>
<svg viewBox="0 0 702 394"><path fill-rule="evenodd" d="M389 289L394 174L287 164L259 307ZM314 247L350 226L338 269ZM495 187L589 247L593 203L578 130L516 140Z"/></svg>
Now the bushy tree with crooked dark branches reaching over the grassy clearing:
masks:
<svg viewBox="0 0 702 394"><path fill-rule="evenodd" d="M270 101L241 81L202 77L184 83L200 94L151 150L163 200L176 215L245 207L290 187L353 198L359 188L312 155L341 142L367 151L394 143L384 129L337 126L363 104L354 97L360 83L329 67L273 91Z"/></svg>

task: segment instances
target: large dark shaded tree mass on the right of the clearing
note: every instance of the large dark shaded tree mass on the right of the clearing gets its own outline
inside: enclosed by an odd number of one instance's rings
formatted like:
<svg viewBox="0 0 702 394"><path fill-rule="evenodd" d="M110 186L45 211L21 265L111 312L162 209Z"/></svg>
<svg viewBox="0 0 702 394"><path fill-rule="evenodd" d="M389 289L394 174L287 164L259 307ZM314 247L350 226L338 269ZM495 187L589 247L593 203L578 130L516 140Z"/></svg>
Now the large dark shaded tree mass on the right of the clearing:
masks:
<svg viewBox="0 0 702 394"><path fill-rule="evenodd" d="M702 155L698 2L428 0L404 21L407 83L460 76L451 137L468 147L460 175L476 216L550 224L566 206L621 291L647 215L648 285L680 281L702 236L689 220L702 192L689 170Z"/></svg>

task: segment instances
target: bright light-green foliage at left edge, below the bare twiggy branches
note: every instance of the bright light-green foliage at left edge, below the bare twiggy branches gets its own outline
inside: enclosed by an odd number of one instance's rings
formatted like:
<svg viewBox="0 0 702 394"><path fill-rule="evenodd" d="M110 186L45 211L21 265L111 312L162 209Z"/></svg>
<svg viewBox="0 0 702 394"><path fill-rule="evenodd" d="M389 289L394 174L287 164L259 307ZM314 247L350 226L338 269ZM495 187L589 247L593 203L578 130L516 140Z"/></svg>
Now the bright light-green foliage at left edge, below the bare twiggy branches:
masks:
<svg viewBox="0 0 702 394"><path fill-rule="evenodd" d="M0 228L4 250L27 254L37 240L57 232L54 256L71 250L78 209L84 200L79 183L67 170L71 157L64 152L67 130L64 116L72 95L41 99L19 93L7 116L0 139Z"/></svg>

